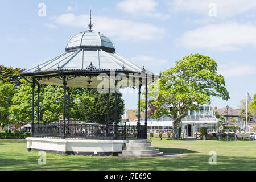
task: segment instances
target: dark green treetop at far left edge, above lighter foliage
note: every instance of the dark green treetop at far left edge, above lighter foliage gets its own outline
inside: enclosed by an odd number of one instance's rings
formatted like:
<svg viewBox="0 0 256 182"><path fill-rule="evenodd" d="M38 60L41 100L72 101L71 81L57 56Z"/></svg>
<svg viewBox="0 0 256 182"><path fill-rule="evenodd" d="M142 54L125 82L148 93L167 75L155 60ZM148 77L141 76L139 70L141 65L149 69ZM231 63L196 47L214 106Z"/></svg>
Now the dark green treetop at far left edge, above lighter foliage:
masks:
<svg viewBox="0 0 256 182"><path fill-rule="evenodd" d="M15 86L19 86L21 84L21 76L20 72L23 72L25 69L21 68L8 68L4 65L0 65L0 81L3 84L14 84Z"/></svg>

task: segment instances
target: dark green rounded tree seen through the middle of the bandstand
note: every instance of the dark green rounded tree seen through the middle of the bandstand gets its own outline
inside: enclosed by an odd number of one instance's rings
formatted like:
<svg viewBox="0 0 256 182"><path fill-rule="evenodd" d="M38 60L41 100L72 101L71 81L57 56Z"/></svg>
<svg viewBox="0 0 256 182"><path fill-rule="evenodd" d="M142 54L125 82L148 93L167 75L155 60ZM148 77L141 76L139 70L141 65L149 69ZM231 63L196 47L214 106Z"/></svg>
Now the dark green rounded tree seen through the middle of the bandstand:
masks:
<svg viewBox="0 0 256 182"><path fill-rule="evenodd" d="M106 123L107 101L106 93L98 93L97 89L85 89L88 96L94 98L94 104L81 101L79 112L84 115L85 121L92 123ZM109 94L109 123L114 122L114 94ZM122 94L117 94L117 122L122 119L125 104Z"/></svg>

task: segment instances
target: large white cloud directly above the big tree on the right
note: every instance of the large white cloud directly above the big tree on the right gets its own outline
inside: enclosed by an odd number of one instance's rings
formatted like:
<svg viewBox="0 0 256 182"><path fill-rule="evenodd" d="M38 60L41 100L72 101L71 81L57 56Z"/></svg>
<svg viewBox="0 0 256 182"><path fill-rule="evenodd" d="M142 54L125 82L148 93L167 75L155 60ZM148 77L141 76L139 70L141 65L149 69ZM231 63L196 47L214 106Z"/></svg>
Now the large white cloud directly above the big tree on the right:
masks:
<svg viewBox="0 0 256 182"><path fill-rule="evenodd" d="M256 26L236 22L209 24L184 32L177 41L188 48L233 51L243 46L256 46Z"/></svg>

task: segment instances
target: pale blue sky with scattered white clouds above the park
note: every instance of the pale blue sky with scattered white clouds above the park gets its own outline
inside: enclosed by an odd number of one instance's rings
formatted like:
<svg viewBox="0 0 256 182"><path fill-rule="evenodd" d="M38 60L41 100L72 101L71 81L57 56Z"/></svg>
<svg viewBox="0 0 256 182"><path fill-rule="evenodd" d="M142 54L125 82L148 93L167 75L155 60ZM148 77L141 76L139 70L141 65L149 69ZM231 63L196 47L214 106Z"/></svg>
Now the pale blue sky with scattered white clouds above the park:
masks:
<svg viewBox="0 0 256 182"><path fill-rule="evenodd" d="M0 6L0 64L31 68L64 53L68 40L88 30L107 35L119 55L160 73L191 53L218 63L230 100L212 106L237 108L256 93L256 1L124 0L5 1ZM138 94L123 94L136 109Z"/></svg>

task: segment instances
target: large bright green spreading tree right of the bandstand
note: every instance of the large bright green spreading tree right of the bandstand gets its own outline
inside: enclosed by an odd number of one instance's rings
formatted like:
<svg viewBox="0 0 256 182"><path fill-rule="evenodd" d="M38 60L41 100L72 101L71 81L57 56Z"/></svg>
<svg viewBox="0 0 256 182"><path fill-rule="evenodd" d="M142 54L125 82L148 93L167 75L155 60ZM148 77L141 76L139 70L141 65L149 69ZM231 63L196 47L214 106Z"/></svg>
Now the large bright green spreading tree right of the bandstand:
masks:
<svg viewBox="0 0 256 182"><path fill-rule="evenodd" d="M148 91L151 92L149 87ZM153 89L153 90L154 90ZM163 115L173 119L173 138L177 139L177 126L188 115L188 110L199 109L199 105L210 104L210 97L229 99L222 75L217 74L217 63L208 56L196 53L176 61L162 73L159 79L159 96L148 101L150 106L158 108L155 118Z"/></svg>

